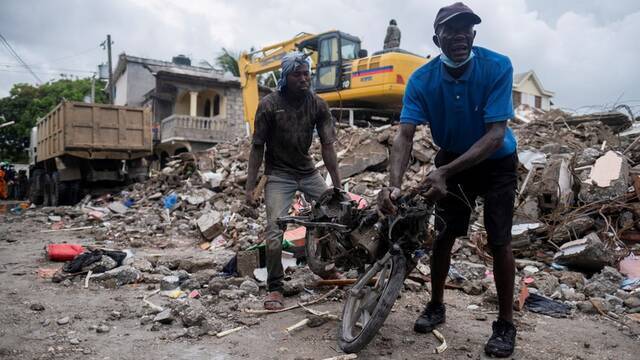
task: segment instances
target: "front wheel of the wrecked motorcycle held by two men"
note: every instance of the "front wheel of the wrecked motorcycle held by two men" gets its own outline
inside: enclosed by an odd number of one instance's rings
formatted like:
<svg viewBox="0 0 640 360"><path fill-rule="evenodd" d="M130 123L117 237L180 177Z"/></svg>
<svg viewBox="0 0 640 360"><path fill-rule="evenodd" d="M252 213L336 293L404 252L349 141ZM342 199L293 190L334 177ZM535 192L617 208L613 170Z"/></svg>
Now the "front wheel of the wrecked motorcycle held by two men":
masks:
<svg viewBox="0 0 640 360"><path fill-rule="evenodd" d="M347 291L338 328L342 351L359 352L373 340L402 290L405 272L404 255L387 253Z"/></svg>

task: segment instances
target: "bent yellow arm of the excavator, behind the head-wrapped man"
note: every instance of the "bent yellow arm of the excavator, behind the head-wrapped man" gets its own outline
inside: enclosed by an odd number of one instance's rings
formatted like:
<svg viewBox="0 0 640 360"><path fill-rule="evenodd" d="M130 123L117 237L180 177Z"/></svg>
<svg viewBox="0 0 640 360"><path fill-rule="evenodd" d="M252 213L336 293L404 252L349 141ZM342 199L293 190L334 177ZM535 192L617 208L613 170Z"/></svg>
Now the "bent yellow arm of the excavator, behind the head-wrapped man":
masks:
<svg viewBox="0 0 640 360"><path fill-rule="evenodd" d="M243 52L238 60L240 69L240 86L244 102L244 118L249 123L251 133L260 96L258 92L258 75L280 68L282 57L288 52L298 49L298 45L316 35L300 33L290 40L264 47L250 53Z"/></svg>

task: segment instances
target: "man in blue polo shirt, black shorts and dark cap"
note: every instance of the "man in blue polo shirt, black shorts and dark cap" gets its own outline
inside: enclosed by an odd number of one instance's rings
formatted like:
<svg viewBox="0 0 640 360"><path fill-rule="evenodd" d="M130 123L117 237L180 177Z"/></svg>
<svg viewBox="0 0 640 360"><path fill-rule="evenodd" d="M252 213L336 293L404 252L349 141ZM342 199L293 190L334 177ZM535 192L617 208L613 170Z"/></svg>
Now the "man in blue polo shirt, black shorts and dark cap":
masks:
<svg viewBox="0 0 640 360"><path fill-rule="evenodd" d="M484 198L484 224L493 255L499 315L485 346L488 355L513 353L515 264L511 224L516 190L516 140L507 127L514 116L511 101L513 68L508 57L474 47L473 26L480 17L462 3L443 7L436 16L433 41L440 56L416 70L409 79L400 116L400 131L391 152L390 186L380 191L383 213L393 213L400 195L417 125L428 124L441 150L436 169L421 187L437 201L439 230L431 257L432 296L416 320L416 332L430 332L445 321L444 284L451 248L467 234L478 196Z"/></svg>

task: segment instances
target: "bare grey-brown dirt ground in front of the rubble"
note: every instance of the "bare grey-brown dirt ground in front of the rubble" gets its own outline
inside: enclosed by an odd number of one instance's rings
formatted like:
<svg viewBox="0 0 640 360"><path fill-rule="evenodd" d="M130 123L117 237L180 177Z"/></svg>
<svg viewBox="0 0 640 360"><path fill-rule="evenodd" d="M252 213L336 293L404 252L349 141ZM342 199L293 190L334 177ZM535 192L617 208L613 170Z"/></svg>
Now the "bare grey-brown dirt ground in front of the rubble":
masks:
<svg viewBox="0 0 640 360"><path fill-rule="evenodd" d="M0 204L1 205L1 204ZM1 206L0 206L1 207ZM1 209L0 209L1 210ZM92 244L85 232L42 233L42 223L33 216L0 214L0 358L6 359L324 359L340 355L336 343L337 323L303 328L287 334L284 328L305 317L303 310L264 315L256 324L223 338L174 339L182 328L178 323L151 331L141 325L145 314L142 297L150 291L146 284L106 289L83 279L69 286L52 283L37 275L39 268L60 266L48 261L47 243ZM168 250L135 249L145 253L201 253L194 243L181 243ZM327 290L319 290L322 293ZM375 340L359 359L482 359L483 346L491 333L495 309L482 304L480 296L447 291L447 323L441 332L449 348L434 354L438 341L433 335L416 334L413 321L428 299L428 292L405 290L396 302ZM169 300L165 300L169 301ZM248 300L260 306L260 298ZM295 304L297 298L287 299ZM30 306L42 304L44 310ZM470 304L480 305L469 310ZM334 314L341 302L332 300L313 308ZM229 312L241 311L232 304ZM119 313L119 318L113 312ZM56 320L69 317L65 325ZM631 328L599 316L576 313L556 319L530 312L516 315L518 338L515 359L638 359L640 327ZM108 332L95 330L106 324ZM237 324L230 323L229 328Z"/></svg>

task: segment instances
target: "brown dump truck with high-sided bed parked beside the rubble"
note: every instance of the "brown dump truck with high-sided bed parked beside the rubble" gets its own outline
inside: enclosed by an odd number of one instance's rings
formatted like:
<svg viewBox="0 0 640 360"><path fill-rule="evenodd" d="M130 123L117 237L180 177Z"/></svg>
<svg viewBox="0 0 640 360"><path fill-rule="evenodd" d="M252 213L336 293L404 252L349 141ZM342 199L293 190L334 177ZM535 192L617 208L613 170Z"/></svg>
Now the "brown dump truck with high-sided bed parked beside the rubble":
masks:
<svg viewBox="0 0 640 360"><path fill-rule="evenodd" d="M32 129L31 202L74 204L96 184L146 177L151 135L147 108L61 102Z"/></svg>

